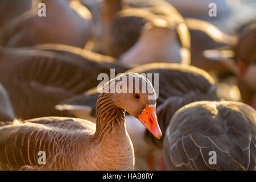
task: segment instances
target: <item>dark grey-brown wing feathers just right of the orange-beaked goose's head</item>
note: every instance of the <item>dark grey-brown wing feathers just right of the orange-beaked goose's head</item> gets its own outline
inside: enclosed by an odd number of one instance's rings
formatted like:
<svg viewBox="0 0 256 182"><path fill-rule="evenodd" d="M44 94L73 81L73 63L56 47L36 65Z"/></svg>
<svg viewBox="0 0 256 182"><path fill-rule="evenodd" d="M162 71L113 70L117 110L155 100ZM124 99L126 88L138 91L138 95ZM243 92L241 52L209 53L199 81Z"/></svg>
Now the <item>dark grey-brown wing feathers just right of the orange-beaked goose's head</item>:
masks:
<svg viewBox="0 0 256 182"><path fill-rule="evenodd" d="M216 95L216 84L200 73L191 70L155 69L159 73L159 97L156 102L156 115L162 130L162 139L152 137L146 131L146 139L162 147L163 138L174 113L180 107L195 101L219 101ZM170 79L172 78L172 79ZM154 79L152 79L154 80Z"/></svg>

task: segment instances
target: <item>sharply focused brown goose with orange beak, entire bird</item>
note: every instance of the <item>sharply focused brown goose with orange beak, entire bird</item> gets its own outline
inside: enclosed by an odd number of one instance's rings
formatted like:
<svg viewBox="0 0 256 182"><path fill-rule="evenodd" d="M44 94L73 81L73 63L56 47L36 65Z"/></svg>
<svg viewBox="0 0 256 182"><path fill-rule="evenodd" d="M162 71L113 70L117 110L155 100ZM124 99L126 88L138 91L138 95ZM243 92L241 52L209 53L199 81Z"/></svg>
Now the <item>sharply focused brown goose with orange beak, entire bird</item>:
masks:
<svg viewBox="0 0 256 182"><path fill-rule="evenodd" d="M110 91L113 86L115 92ZM145 93L143 86L147 86ZM155 108L155 90L147 78L136 73L119 75L98 96L96 125L78 118L43 117L0 127L0 169L133 170L125 111L160 138ZM38 163L38 151L46 152L45 165Z"/></svg>

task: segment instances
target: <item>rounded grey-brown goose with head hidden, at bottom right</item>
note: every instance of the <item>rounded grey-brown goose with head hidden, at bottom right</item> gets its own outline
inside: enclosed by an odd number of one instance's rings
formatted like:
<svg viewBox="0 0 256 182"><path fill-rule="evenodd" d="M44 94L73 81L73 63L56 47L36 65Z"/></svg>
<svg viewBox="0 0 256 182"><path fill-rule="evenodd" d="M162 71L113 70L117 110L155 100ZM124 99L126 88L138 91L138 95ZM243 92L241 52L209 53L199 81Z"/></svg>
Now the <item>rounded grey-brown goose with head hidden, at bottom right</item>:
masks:
<svg viewBox="0 0 256 182"><path fill-rule="evenodd" d="M255 142L252 107L234 101L200 101L174 114L164 137L163 155L170 170L255 171Z"/></svg>

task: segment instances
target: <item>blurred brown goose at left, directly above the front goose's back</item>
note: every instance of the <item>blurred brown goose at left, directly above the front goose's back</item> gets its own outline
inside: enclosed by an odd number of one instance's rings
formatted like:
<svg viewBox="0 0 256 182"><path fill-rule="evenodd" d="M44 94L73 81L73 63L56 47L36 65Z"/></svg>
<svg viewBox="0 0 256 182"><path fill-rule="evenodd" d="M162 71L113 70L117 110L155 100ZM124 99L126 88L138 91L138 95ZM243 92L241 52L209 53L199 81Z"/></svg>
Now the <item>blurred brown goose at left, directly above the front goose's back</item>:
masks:
<svg viewBox="0 0 256 182"><path fill-rule="evenodd" d="M17 118L72 115L55 110L59 102L97 86L100 73L129 69L109 56L60 44L0 48L0 82Z"/></svg>

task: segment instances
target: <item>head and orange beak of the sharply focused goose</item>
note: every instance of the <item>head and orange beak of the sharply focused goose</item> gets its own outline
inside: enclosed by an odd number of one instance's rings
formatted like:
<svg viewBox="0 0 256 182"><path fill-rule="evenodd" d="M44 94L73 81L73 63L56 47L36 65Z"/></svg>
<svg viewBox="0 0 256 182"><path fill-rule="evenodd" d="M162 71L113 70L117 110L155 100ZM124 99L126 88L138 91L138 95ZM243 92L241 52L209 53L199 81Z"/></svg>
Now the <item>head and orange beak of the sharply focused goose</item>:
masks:
<svg viewBox="0 0 256 182"><path fill-rule="evenodd" d="M156 137L162 132L156 117L156 93L149 80L137 73L125 73L110 80L101 93L108 93L113 104L139 119Z"/></svg>

